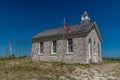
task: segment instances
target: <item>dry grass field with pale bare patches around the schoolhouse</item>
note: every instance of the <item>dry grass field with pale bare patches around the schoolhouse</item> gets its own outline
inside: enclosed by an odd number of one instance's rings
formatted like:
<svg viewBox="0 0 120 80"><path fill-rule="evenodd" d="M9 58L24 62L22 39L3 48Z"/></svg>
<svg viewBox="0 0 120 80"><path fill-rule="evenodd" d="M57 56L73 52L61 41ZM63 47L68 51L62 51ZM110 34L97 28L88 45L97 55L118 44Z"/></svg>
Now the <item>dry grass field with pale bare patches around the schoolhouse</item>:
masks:
<svg viewBox="0 0 120 80"><path fill-rule="evenodd" d="M65 64L31 62L29 58L0 59L0 80L120 80L120 60Z"/></svg>

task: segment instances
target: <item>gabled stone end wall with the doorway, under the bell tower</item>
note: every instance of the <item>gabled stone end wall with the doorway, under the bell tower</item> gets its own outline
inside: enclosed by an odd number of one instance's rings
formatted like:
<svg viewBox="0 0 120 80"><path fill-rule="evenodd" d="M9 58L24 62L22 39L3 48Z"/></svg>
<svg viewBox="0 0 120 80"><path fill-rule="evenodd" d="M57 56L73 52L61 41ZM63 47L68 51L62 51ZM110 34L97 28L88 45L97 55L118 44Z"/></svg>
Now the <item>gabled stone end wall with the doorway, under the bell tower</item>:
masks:
<svg viewBox="0 0 120 80"><path fill-rule="evenodd" d="M96 33L95 28L91 30L91 32L86 37L86 62L90 62L88 56L90 55L88 52L88 43L91 40L91 53L92 53L92 63L102 62L102 54L101 54L101 41Z"/></svg>

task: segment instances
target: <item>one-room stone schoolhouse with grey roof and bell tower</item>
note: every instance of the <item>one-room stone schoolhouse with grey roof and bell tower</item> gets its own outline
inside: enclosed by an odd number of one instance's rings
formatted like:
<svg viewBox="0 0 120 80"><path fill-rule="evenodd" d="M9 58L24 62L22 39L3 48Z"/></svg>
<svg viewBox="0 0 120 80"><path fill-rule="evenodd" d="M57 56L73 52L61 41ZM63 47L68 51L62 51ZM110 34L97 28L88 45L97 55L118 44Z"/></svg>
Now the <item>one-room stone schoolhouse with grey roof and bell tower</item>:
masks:
<svg viewBox="0 0 120 80"><path fill-rule="evenodd" d="M80 24L70 25L70 29L71 34L60 27L33 36L32 60L83 64L102 62L102 37L97 23L90 21L89 14L84 12Z"/></svg>

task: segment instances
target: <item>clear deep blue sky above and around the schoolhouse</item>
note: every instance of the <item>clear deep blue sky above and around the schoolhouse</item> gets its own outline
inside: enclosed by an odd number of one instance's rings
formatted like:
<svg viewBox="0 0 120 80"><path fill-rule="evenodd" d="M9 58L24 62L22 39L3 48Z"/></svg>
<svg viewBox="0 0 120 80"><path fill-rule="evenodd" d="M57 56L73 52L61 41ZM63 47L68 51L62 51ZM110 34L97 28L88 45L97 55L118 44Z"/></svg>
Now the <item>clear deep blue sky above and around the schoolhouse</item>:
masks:
<svg viewBox="0 0 120 80"><path fill-rule="evenodd" d="M0 0L0 56L9 40L31 41L39 32L79 24L87 11L103 37L102 53L120 57L120 0Z"/></svg>

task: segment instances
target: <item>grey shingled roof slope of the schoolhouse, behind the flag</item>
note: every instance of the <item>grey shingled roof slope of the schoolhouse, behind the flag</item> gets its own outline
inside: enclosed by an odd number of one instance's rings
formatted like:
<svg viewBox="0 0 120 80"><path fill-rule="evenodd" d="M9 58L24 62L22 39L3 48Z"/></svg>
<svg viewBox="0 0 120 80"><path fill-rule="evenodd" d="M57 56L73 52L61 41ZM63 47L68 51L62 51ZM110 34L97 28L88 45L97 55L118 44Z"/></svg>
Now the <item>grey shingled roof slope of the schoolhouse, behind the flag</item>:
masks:
<svg viewBox="0 0 120 80"><path fill-rule="evenodd" d="M92 28L92 25L94 23L95 22L89 22L89 23L86 23L86 24L81 23L81 24L77 24L77 25L71 25L70 26L71 27L71 33L88 32ZM56 36L56 35L61 35L61 34L67 34L63 27L50 29L50 30L45 30L45 31L33 36L32 39Z"/></svg>

